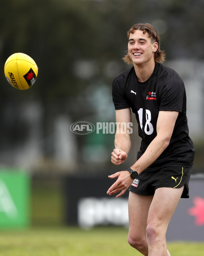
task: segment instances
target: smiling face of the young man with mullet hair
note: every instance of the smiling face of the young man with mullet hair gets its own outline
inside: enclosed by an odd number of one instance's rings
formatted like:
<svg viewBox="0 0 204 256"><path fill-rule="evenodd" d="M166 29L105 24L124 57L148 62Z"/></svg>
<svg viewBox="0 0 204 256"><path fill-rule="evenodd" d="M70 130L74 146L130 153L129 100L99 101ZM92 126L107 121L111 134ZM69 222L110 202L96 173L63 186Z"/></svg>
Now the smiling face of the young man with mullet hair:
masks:
<svg viewBox="0 0 204 256"><path fill-rule="evenodd" d="M135 65L154 63L154 53L158 48L158 43L151 40L148 33L143 30L135 30L130 34L128 43L128 54Z"/></svg>

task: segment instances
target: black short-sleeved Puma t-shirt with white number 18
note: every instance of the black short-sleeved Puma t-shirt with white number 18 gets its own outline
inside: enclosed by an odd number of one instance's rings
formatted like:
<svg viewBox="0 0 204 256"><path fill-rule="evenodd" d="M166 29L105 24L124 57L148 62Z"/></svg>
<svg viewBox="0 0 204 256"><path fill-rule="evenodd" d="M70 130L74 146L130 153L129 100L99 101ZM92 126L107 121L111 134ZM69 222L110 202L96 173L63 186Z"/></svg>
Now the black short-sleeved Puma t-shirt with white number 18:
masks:
<svg viewBox="0 0 204 256"><path fill-rule="evenodd" d="M138 82L134 67L115 77L112 87L115 109L131 108L138 122L142 138L137 159L156 137L159 111L178 111L173 134L165 151L147 170L163 166L189 167L193 164L194 147L188 135L186 91L181 77L160 63L146 82Z"/></svg>

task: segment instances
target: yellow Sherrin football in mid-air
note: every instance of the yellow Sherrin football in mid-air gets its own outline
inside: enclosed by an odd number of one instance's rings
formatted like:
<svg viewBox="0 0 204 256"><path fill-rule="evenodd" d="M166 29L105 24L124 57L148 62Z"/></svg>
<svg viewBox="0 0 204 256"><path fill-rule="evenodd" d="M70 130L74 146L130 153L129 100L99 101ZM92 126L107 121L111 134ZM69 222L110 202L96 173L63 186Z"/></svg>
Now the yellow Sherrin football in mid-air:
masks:
<svg viewBox="0 0 204 256"><path fill-rule="evenodd" d="M14 53L5 62L4 74L14 88L26 90L35 83L38 67L27 54Z"/></svg>

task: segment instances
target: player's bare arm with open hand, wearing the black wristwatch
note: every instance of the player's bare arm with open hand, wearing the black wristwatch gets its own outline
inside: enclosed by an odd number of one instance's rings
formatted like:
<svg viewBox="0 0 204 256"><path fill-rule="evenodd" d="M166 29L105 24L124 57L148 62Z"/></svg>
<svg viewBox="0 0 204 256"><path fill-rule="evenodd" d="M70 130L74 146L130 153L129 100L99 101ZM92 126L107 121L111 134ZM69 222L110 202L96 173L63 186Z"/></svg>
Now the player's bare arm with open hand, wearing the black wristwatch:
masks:
<svg viewBox="0 0 204 256"><path fill-rule="evenodd" d="M131 168L138 173L141 173L148 166L150 166L162 152L169 145L169 141L172 136L174 125L179 112L176 111L160 111L157 119L157 136L149 144L145 153L140 157L138 161L131 166ZM130 173L127 171L117 172L110 175L109 178L113 179L118 177L117 181L108 189L107 194L113 195L118 193L116 197L120 197L125 193L128 187L132 184L133 179L130 177Z"/></svg>

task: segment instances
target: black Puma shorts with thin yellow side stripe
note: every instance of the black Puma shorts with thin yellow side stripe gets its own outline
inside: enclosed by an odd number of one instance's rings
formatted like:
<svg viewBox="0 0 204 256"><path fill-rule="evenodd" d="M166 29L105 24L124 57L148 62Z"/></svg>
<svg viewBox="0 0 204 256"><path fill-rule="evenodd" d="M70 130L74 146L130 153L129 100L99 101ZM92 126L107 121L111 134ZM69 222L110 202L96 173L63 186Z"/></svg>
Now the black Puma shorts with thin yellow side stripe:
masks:
<svg viewBox="0 0 204 256"><path fill-rule="evenodd" d="M142 196L154 195L159 187L181 188L184 191L181 198L189 198L189 179L191 167L162 167L156 171L143 171L133 181L129 190Z"/></svg>

